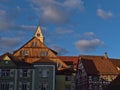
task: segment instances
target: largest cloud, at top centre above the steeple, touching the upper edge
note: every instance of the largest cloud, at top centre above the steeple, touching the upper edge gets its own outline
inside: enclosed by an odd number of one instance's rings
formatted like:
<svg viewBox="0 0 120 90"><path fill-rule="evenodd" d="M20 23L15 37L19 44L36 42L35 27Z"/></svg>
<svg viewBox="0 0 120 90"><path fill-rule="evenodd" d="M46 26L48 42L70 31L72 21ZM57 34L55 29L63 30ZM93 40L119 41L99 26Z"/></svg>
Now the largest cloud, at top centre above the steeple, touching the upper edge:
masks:
<svg viewBox="0 0 120 90"><path fill-rule="evenodd" d="M32 8L37 15L45 22L65 23L69 19L70 11L73 9L82 10L84 3L82 0L32 0Z"/></svg>

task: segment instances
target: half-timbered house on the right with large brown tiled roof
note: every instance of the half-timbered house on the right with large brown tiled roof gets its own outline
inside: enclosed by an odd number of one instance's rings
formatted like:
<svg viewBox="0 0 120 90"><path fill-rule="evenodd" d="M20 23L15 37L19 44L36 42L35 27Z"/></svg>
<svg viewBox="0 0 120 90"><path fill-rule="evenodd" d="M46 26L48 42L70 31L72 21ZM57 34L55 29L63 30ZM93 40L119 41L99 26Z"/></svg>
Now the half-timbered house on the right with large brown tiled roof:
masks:
<svg viewBox="0 0 120 90"><path fill-rule="evenodd" d="M77 66L76 90L104 90L119 75L111 60L106 55L81 55Z"/></svg>

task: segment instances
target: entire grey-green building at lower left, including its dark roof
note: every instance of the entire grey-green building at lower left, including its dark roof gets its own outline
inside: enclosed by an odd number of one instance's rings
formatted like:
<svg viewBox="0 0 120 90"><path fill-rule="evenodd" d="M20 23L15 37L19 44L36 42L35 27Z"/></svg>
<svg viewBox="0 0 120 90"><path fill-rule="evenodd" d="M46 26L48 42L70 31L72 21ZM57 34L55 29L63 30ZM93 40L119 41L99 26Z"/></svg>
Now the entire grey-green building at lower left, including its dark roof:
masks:
<svg viewBox="0 0 120 90"><path fill-rule="evenodd" d="M7 53L0 57L0 90L55 90L55 72L49 60L29 64Z"/></svg>

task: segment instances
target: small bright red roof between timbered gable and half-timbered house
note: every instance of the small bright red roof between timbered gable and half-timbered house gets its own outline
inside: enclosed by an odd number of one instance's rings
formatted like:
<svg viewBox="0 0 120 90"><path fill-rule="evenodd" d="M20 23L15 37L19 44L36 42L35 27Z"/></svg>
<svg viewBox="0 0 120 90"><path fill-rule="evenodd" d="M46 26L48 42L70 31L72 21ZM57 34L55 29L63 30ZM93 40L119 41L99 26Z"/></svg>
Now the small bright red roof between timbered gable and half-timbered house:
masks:
<svg viewBox="0 0 120 90"><path fill-rule="evenodd" d="M79 56L58 56L58 58L60 58L64 62L73 62L74 69L77 68Z"/></svg>

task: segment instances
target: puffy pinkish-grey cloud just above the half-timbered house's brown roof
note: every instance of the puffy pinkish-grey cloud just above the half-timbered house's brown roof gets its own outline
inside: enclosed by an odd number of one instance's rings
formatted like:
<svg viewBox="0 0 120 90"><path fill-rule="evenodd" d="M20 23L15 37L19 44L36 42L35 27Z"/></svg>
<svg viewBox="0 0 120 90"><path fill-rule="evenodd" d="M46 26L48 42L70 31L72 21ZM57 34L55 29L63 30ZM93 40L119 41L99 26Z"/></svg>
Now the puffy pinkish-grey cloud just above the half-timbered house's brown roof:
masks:
<svg viewBox="0 0 120 90"><path fill-rule="evenodd" d="M76 48L81 52L95 51L99 46L104 46L104 42L96 38L93 32L83 34L83 37L75 43Z"/></svg>

